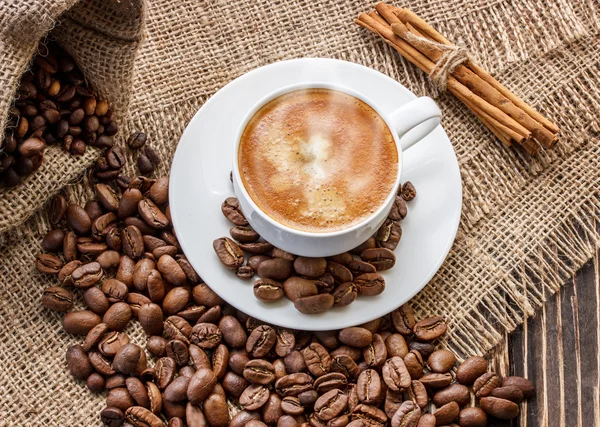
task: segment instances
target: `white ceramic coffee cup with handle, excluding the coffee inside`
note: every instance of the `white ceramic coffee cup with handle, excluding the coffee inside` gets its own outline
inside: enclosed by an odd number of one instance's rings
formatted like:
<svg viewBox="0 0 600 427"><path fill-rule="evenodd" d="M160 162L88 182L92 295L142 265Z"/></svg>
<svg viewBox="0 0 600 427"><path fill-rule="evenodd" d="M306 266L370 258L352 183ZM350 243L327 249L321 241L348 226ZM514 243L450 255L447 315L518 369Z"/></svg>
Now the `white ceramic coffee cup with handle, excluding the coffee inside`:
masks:
<svg viewBox="0 0 600 427"><path fill-rule="evenodd" d="M323 233L296 230L275 221L263 212L252 200L246 188L244 188L238 164L238 150L242 133L250 119L258 112L258 110L269 101L285 93L310 88L331 89L344 92L371 106L371 108L373 108L387 124L394 136L394 141L398 150L398 171L394 187L381 206L379 206L371 216L358 224L342 230ZM383 114L377 105L364 95L336 84L309 82L278 89L257 102L246 114L234 141L232 169L233 190L239 200L242 212L244 212L244 215L252 228L254 228L261 237L284 251L296 255L312 257L331 256L349 251L371 237L388 216L392 205L394 204L398 187L400 186L402 151L407 150L427 136L439 125L441 117L442 113L440 109L436 103L428 97L417 98L408 104L402 105L391 114Z"/></svg>

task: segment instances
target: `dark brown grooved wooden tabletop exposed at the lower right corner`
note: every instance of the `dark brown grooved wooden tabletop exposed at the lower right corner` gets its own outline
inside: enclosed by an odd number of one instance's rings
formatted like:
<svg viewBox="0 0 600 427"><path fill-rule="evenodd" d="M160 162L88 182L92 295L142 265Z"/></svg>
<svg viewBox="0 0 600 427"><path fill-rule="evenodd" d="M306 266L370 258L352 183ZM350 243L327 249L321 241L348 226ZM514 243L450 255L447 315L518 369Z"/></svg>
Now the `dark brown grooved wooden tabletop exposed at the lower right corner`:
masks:
<svg viewBox="0 0 600 427"><path fill-rule="evenodd" d="M492 354L501 375L536 385L519 418L494 427L600 426L600 254Z"/></svg>

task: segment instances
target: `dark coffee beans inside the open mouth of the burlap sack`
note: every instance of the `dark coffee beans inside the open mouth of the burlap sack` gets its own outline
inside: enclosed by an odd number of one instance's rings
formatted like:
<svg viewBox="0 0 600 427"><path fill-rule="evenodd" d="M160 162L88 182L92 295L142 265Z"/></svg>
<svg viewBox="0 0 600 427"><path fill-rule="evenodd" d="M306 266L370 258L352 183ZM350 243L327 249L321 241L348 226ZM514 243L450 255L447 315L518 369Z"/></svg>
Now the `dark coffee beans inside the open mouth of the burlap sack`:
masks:
<svg viewBox="0 0 600 427"><path fill-rule="evenodd" d="M48 144L82 155L86 145L112 147L117 124L108 102L87 85L71 56L41 44L23 74L0 145L0 183L18 185L37 170Z"/></svg>

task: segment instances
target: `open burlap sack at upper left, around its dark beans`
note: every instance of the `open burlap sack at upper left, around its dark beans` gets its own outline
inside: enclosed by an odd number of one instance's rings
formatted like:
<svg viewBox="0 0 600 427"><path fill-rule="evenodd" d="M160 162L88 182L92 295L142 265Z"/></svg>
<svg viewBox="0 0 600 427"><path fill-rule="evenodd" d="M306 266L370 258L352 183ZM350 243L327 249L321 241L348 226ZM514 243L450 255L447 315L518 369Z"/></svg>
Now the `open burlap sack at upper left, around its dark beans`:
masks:
<svg viewBox="0 0 600 427"><path fill-rule="evenodd" d="M120 122L142 37L143 0L9 0L0 13L0 138L21 75L38 42L48 38L73 55ZM0 232L22 224L58 190L81 176L98 155L92 147L81 157L58 146L49 147L42 167L21 185L0 187Z"/></svg>

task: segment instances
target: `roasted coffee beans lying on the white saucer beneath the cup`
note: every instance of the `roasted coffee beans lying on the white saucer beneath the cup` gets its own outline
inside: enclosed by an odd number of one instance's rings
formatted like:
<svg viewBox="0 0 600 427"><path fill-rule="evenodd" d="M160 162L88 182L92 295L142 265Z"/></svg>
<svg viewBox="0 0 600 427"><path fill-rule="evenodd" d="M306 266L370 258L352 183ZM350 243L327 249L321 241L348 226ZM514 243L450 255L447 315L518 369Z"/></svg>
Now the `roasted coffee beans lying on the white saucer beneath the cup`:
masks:
<svg viewBox="0 0 600 427"><path fill-rule="evenodd" d="M225 267L240 279L249 280L255 274L260 277L254 282L254 295L259 300L273 302L285 296L301 313L324 313L331 307L350 305L359 295L384 291L385 279L378 272L396 263L393 251L402 237L400 221L408 214L406 202L416 195L413 184L405 182L374 236L350 252L328 258L299 257L260 241L238 200L229 197L221 211L235 226L229 230L234 240L221 237L213 242L213 248Z"/></svg>

